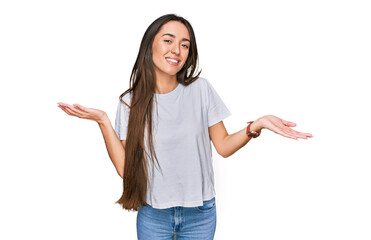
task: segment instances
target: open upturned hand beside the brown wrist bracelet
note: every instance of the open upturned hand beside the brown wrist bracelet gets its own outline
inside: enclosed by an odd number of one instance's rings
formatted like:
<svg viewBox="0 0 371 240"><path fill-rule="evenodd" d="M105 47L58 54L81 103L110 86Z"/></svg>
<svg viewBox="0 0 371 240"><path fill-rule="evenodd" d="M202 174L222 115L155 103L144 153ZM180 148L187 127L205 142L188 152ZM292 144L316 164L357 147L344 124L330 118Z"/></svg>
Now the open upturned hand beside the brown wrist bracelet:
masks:
<svg viewBox="0 0 371 240"><path fill-rule="evenodd" d="M252 125L253 124L255 124L255 127L257 127L258 130L266 128L284 137L293 138L295 140L298 140L298 138L307 139L308 137L313 137L313 135L310 133L302 133L291 129L291 127L296 126L296 123L285 121L273 115L266 115L264 117L261 117L254 123L252 123Z"/></svg>

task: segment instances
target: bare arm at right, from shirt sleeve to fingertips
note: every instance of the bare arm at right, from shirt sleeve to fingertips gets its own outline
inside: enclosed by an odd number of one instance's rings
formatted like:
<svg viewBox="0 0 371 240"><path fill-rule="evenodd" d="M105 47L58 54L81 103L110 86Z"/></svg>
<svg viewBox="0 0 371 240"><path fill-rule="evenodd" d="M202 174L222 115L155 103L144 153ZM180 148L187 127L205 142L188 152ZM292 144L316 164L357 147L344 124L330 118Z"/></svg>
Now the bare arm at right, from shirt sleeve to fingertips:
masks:
<svg viewBox="0 0 371 240"><path fill-rule="evenodd" d="M255 120L251 124L250 130L256 132L266 128L284 137L293 138L295 140L298 140L298 138L307 139L307 137L313 137L310 133L302 133L290 128L294 126L296 126L296 124L293 122L285 121L273 115L266 115ZM245 146L251 140L246 134L246 128L247 125L240 131L229 135L224 127L223 121L209 127L210 138L216 151L222 157L227 158Z"/></svg>

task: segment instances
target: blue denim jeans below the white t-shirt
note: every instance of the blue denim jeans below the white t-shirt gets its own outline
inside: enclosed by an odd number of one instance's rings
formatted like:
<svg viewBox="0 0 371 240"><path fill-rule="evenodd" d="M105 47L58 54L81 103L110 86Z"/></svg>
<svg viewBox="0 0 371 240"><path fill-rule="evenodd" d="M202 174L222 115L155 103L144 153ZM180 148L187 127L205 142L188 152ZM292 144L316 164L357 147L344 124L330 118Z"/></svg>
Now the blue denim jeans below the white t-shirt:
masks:
<svg viewBox="0 0 371 240"><path fill-rule="evenodd" d="M212 240L215 228L215 197L198 207L157 209L147 205L138 209L138 240Z"/></svg>

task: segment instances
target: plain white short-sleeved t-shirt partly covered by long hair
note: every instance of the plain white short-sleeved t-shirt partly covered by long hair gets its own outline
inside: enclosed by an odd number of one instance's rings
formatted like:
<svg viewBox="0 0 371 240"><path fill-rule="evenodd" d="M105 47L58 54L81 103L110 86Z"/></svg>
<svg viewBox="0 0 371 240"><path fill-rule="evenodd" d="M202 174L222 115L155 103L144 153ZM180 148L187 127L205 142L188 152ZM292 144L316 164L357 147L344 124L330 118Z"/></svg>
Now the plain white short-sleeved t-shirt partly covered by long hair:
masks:
<svg viewBox="0 0 371 240"><path fill-rule="evenodd" d="M179 83L169 93L154 95L152 135L161 169L155 159L155 167L149 159L146 202L158 209L201 206L215 196L208 127L231 112L202 77L188 86ZM130 93L123 100L130 105ZM120 140L126 139L129 113L119 101L115 132Z"/></svg>

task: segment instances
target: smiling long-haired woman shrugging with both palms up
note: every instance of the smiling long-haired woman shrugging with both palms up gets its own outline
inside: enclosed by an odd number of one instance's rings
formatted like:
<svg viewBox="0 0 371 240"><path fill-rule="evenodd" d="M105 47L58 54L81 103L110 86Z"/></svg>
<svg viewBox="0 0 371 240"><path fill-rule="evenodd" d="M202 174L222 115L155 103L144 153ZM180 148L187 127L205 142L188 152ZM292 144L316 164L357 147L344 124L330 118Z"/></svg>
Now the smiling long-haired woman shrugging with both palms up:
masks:
<svg viewBox="0 0 371 240"><path fill-rule="evenodd" d="M68 115L96 121L123 178L116 202L138 211L138 239L213 239L216 227L211 141L229 157L263 128L284 137L312 137L296 124L263 116L228 134L231 115L197 69L196 38L184 18L168 14L146 30L130 87L120 95L115 129L104 111L59 103ZM156 161L155 161L155 160Z"/></svg>

